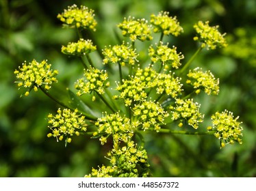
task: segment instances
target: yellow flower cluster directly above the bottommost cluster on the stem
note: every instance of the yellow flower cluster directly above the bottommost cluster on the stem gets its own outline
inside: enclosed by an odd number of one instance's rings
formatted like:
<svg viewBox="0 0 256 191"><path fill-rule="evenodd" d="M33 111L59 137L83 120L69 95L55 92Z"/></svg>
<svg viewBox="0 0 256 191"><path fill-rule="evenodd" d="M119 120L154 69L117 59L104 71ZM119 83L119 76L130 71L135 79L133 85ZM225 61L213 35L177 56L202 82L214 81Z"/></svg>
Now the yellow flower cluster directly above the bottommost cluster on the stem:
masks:
<svg viewBox="0 0 256 191"><path fill-rule="evenodd" d="M94 132L93 136L99 137L101 145L107 143L107 136L112 135L114 145L118 145L120 141L127 143L129 139L133 136L133 127L131 126L131 121L127 117L123 117L120 113L113 113L103 115L100 117L95 126L97 127L97 132Z"/></svg>

